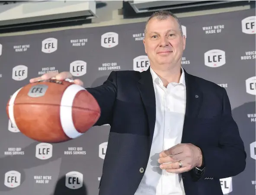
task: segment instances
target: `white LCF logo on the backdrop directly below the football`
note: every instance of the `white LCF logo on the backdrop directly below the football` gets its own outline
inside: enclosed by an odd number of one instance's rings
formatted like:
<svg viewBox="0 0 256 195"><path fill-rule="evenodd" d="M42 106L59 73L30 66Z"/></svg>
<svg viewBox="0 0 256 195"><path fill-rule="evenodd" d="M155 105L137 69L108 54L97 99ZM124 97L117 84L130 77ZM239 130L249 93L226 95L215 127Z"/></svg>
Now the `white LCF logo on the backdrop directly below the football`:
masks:
<svg viewBox="0 0 256 195"><path fill-rule="evenodd" d="M52 145L48 143L40 143L35 147L35 157L40 160L47 160L52 157Z"/></svg>

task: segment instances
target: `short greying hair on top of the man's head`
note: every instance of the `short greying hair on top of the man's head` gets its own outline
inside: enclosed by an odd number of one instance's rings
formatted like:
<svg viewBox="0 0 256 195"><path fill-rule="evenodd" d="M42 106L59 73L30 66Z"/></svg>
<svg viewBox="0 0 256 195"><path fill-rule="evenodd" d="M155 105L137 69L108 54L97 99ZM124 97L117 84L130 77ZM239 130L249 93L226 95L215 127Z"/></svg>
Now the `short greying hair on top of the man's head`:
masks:
<svg viewBox="0 0 256 195"><path fill-rule="evenodd" d="M177 16L175 16L173 13L171 13L170 11L166 11L166 10L160 10L160 11L157 11L155 13L153 13L149 19L147 19L147 22L145 24L145 29L144 29L144 33L146 34L146 29L147 29L147 23L150 21L150 19L152 18L156 18L158 20L165 20L165 19L168 19L169 17L173 17L179 24L179 30L181 32L181 35L183 35L183 32L182 32L182 25L181 25L181 22L179 21L179 18Z"/></svg>

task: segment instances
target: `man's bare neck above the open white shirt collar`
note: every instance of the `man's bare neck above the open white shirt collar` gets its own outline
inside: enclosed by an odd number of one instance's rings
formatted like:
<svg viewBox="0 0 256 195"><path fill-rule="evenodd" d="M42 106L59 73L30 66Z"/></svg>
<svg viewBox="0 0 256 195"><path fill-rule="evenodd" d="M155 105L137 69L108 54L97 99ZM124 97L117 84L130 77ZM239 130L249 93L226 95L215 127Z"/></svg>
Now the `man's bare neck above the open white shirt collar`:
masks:
<svg viewBox="0 0 256 195"><path fill-rule="evenodd" d="M182 70L181 66L168 67L167 69L158 69L156 67L151 67L152 70L158 75L158 77L162 80L163 86L167 87L169 83L179 83Z"/></svg>

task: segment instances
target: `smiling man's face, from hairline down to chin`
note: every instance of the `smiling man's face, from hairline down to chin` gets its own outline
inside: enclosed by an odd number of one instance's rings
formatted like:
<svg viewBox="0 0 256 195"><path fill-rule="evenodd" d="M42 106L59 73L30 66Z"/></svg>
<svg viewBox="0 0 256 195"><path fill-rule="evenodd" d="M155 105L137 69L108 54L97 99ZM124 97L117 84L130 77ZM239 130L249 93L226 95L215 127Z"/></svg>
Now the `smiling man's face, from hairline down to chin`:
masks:
<svg viewBox="0 0 256 195"><path fill-rule="evenodd" d="M165 20L151 19L143 42L153 67L161 69L180 65L186 38L181 35L179 24L173 17Z"/></svg>

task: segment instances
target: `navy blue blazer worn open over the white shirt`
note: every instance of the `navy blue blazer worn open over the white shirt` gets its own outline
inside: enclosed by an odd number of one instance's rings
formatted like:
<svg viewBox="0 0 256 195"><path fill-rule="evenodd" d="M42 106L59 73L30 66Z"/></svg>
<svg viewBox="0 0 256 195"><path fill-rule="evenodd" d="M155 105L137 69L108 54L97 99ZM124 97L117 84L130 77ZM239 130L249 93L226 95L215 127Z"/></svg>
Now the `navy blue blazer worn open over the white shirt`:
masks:
<svg viewBox="0 0 256 195"><path fill-rule="evenodd" d="M221 178L236 176L246 166L246 152L224 88L188 74L182 143L201 148L205 171L182 173L186 195L223 195ZM99 184L99 195L134 195L147 168L156 120L150 69L113 71L95 88L95 125L111 125ZM143 168L143 169L141 169Z"/></svg>

